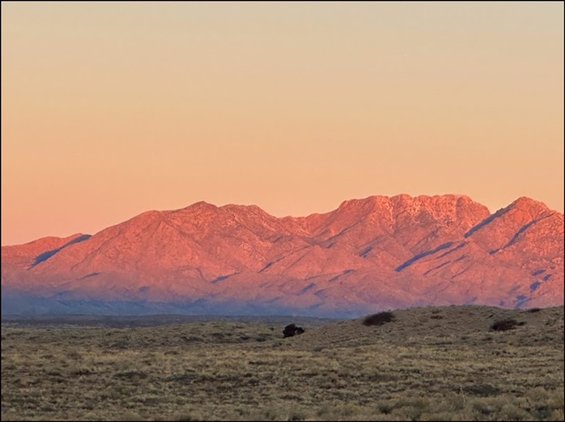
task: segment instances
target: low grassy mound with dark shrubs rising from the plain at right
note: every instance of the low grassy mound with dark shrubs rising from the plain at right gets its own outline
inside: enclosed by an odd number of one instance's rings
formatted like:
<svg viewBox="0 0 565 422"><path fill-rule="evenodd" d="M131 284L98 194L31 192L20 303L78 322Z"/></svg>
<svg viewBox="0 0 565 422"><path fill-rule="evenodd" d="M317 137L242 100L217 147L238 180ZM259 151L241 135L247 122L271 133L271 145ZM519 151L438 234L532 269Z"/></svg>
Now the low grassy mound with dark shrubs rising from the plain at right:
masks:
<svg viewBox="0 0 565 422"><path fill-rule="evenodd" d="M533 310L533 312L532 312ZM304 349L357 347L379 342L395 345L451 345L492 340L491 325L515 319L517 325L507 340L516 346L535 346L547 341L563 342L564 307L547 309L502 309L494 306L426 306L392 311L394 319L382 325L364 325L364 318L324 324L292 339ZM507 331L506 333L509 333Z"/></svg>

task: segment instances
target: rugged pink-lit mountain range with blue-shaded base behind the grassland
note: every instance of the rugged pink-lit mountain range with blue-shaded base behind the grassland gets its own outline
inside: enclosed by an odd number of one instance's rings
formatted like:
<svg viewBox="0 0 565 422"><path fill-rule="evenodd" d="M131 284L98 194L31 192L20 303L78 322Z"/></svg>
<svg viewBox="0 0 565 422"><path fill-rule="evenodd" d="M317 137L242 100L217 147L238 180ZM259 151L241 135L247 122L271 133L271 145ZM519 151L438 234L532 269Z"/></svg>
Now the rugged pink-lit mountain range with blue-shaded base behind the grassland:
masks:
<svg viewBox="0 0 565 422"><path fill-rule="evenodd" d="M563 283L564 216L528 198L490 214L461 195L377 196L300 218L199 202L1 250L4 314L27 299L97 313L542 307L564 304Z"/></svg>

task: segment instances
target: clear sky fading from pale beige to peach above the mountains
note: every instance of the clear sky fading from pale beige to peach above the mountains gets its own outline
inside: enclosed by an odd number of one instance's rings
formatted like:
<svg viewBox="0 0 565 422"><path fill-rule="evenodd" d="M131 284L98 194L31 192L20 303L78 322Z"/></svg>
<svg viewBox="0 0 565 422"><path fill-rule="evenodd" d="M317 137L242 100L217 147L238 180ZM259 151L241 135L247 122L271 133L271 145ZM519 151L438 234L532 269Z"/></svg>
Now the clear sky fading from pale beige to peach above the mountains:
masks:
<svg viewBox="0 0 565 422"><path fill-rule="evenodd" d="M564 4L1 4L1 244L196 201L564 209Z"/></svg>

